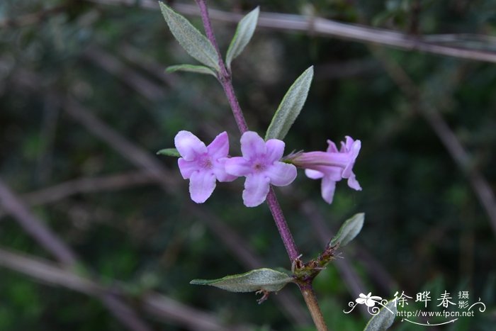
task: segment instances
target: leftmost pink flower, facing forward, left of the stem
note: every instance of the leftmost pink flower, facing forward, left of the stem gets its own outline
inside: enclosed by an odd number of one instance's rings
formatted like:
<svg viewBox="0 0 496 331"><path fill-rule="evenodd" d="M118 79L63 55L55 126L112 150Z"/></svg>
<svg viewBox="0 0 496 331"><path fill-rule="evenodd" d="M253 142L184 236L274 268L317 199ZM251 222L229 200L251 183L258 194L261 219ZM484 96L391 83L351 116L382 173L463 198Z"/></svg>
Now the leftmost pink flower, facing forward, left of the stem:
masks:
<svg viewBox="0 0 496 331"><path fill-rule="evenodd" d="M215 189L215 181L233 181L236 176L225 172L225 161L229 153L227 133L220 133L210 145L199 140L188 131L179 131L174 145L181 157L177 160L184 179L189 179L191 200L203 203Z"/></svg>

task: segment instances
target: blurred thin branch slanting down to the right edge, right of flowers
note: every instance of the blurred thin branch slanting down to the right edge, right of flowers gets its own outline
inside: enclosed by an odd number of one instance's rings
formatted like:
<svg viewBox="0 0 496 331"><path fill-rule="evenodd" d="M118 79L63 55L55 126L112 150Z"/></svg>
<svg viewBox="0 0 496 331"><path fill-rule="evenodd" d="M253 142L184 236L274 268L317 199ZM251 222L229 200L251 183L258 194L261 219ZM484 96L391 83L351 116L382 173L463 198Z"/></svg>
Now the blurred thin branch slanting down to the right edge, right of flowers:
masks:
<svg viewBox="0 0 496 331"><path fill-rule="evenodd" d="M415 85L405 70L397 62L385 55L384 52L381 52L381 50L373 50L373 53L378 60L381 60L385 71L398 84L405 96L410 100L410 103L417 105L412 110L418 111L427 121L449 152L449 155L451 155L453 161L461 169L463 174L467 176L470 186L472 186L475 195L478 196L480 204L489 218L492 231L496 235L496 197L490 184L483 174L473 166L470 155L468 155L468 152L466 152L458 137L449 128L449 125L433 103L422 99L422 91Z"/></svg>

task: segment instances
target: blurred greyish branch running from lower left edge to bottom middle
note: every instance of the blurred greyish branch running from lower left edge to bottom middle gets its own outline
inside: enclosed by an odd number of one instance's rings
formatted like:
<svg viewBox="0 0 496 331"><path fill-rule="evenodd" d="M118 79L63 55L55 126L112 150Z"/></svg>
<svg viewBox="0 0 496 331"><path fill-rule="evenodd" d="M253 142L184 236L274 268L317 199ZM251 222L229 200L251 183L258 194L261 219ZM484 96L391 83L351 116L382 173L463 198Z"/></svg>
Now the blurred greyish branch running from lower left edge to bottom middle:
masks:
<svg viewBox="0 0 496 331"><path fill-rule="evenodd" d="M116 297L126 296L120 290L123 284L118 282L112 281L111 283L116 285L107 288L96 281L74 274L73 271L62 269L52 262L7 249L0 248L0 265L43 281L47 285L63 286L88 296L106 295L112 298L114 304L119 302ZM133 299L136 300L136 298ZM210 313L190 308L159 293L150 292L138 296L137 303L156 318L165 322L176 322L190 330L251 330L241 325L226 326ZM118 308L121 313L130 313L130 310L122 304L116 305L115 308Z"/></svg>

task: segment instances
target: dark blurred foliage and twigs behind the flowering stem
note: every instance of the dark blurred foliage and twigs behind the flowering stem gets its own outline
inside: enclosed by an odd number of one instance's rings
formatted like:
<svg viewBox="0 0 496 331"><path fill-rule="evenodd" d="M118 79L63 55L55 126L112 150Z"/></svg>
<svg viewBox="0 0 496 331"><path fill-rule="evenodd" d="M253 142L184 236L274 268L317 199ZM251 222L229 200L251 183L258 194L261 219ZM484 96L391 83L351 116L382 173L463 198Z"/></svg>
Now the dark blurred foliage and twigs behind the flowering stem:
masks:
<svg viewBox="0 0 496 331"><path fill-rule="evenodd" d="M194 7L193 1L171 3L177 4ZM472 50L496 47L491 0L209 5L233 14L260 6L262 13L429 34L432 43ZM157 8L140 0L0 2L1 179L71 247L79 266L53 264L55 257L8 215L4 199L0 330L133 330L98 295L43 279L43 267L22 271L36 262L98 282L98 291L111 293L150 327L141 330L208 330L209 318L252 330L312 330L295 286L257 305L253 293L188 284L290 264L268 208L242 205L242 180L218 185L195 206L176 160L154 155L172 147L179 130L204 141L227 130L231 152L239 148L215 79L164 73L169 65L195 62ZM201 28L198 16L188 18ZM225 52L235 26L214 20L214 28ZM286 152L323 150L327 139L345 135L362 141L355 172L363 191L339 183L328 206L320 184L303 173L277 189L303 259L315 257L346 218L366 213L359 237L315 280L329 328L362 330L367 315L343 313L358 293L391 298L405 291L415 298L431 291L435 310L439 293L456 300L458 291L469 291L471 302L486 304L485 313L429 330L495 330L495 64L312 30L258 28L232 69L252 130L264 133L288 86L312 64L315 79ZM16 267L6 258L12 252L19 256L14 262L31 262ZM145 308L150 293L161 293L162 310ZM180 313L167 310L173 303L182 304ZM399 320L395 330L424 330Z"/></svg>

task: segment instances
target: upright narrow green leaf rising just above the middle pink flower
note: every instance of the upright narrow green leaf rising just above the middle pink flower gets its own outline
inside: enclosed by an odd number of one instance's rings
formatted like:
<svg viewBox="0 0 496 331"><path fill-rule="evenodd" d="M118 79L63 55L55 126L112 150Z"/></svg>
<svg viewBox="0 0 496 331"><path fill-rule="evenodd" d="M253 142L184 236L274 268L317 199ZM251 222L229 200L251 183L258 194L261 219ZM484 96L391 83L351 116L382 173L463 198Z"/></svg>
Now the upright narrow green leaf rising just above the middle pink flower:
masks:
<svg viewBox="0 0 496 331"><path fill-rule="evenodd" d="M306 69L291 85L272 118L271 125L265 134L265 140L272 138L283 140L286 137L291 125L300 115L301 108L303 108L308 96L312 78L313 66Z"/></svg>

